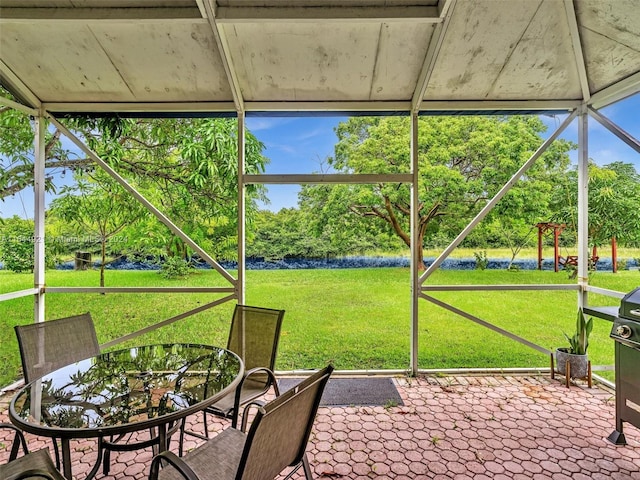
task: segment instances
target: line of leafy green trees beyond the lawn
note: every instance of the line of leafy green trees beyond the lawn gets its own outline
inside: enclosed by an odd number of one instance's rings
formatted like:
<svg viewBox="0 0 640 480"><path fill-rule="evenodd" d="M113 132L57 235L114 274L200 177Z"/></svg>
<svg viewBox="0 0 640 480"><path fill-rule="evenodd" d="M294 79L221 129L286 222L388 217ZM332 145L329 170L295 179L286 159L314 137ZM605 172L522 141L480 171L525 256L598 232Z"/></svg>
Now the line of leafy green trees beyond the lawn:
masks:
<svg viewBox="0 0 640 480"><path fill-rule="evenodd" d="M5 95L8 95L6 92ZM145 198L214 258L237 255L237 122L235 119L67 118L65 125ZM336 173L408 173L407 117L353 117L336 128L334 155L323 169ZM418 232L423 247L447 245L543 143L536 116L424 116L418 120ZM33 185L33 128L24 114L0 110L0 198ZM91 251L102 265L122 255L189 260L188 246L94 162L65 147L53 126L46 135L46 212L50 258ZM556 140L465 246L531 245L539 222L567 225L575 243L577 172ZM247 173L263 173L264 145L246 132ZM590 242L640 245L640 177L633 165L591 162ZM65 186L59 187L65 177ZM410 188L406 184L303 185L296 208L270 212L265 189L247 186L247 255L266 259L398 252L410 245ZM0 204L1 212L1 204ZM31 233L29 233L31 232ZM25 238L33 226L0 223L7 268L29 270ZM22 241L21 241L22 240ZM422 249L419 249L421 252ZM32 260L31 260L32 261ZM104 272L103 272L104 273Z"/></svg>

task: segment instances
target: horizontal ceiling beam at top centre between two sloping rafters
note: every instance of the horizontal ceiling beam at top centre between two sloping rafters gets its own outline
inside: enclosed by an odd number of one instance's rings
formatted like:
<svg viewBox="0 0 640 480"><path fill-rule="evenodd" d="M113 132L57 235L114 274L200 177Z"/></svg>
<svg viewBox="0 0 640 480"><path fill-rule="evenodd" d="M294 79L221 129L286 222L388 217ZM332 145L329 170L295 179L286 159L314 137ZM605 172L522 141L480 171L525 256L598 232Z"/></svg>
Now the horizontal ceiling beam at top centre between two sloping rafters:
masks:
<svg viewBox="0 0 640 480"><path fill-rule="evenodd" d="M366 6L366 7L218 7L220 23L274 22L440 22L438 7Z"/></svg>

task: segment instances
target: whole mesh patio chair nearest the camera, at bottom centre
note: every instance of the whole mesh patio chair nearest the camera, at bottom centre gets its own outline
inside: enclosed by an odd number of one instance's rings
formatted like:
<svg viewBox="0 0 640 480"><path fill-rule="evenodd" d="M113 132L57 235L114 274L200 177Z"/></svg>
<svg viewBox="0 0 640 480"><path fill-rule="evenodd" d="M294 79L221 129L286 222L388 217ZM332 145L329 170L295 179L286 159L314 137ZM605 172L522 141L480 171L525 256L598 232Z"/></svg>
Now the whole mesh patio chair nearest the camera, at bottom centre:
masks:
<svg viewBox="0 0 640 480"><path fill-rule="evenodd" d="M329 365L260 406L246 433L247 410L253 403L245 407L241 430L227 428L182 458L162 452L151 462L149 479L272 480L287 467L293 470L286 478L302 467L311 480L305 451L332 371ZM160 470L161 464L168 465Z"/></svg>

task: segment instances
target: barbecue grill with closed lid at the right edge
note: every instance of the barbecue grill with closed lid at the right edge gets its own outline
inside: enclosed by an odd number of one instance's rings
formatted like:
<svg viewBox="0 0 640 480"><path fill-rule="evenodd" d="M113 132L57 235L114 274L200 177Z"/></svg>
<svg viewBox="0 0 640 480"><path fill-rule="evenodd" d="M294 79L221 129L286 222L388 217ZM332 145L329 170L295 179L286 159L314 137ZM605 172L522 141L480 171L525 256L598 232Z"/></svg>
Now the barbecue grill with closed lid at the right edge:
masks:
<svg viewBox="0 0 640 480"><path fill-rule="evenodd" d="M640 428L640 287L624 296L609 335L615 340L616 429L609 440L626 445L623 424Z"/></svg>

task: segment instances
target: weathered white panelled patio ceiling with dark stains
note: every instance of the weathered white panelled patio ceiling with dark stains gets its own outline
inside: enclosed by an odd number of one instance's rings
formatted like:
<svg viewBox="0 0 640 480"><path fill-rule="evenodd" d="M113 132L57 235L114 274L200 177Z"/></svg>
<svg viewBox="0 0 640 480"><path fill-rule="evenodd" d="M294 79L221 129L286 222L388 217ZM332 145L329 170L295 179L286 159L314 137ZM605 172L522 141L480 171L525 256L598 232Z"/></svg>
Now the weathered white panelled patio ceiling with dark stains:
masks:
<svg viewBox="0 0 640 480"><path fill-rule="evenodd" d="M1 0L52 112L572 109L640 90L638 0Z"/></svg>

